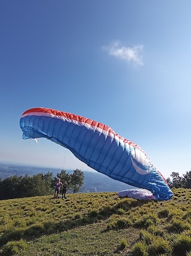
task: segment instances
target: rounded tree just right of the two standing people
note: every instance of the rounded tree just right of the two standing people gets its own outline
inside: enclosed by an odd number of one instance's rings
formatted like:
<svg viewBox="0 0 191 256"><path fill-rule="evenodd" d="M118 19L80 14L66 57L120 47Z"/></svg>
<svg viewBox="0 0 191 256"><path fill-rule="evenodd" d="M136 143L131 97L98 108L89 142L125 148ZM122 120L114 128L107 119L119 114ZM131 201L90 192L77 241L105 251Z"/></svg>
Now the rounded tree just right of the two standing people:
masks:
<svg viewBox="0 0 191 256"><path fill-rule="evenodd" d="M73 190L73 193L76 193L81 189L84 184L84 172L81 170L74 170L71 174L70 188Z"/></svg>

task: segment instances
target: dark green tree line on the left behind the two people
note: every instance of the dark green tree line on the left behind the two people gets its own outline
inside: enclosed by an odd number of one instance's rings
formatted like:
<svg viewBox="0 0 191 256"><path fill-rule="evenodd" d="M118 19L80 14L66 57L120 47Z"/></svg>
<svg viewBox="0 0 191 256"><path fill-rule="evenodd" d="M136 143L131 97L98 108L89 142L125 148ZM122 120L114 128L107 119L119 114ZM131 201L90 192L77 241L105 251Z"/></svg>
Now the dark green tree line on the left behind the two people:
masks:
<svg viewBox="0 0 191 256"><path fill-rule="evenodd" d="M4 180L0 178L0 200L53 194L58 178L67 182L67 189L72 193L78 192L84 184L84 172L79 169L73 170L72 174L61 170L56 177L50 171L33 176L14 175Z"/></svg>

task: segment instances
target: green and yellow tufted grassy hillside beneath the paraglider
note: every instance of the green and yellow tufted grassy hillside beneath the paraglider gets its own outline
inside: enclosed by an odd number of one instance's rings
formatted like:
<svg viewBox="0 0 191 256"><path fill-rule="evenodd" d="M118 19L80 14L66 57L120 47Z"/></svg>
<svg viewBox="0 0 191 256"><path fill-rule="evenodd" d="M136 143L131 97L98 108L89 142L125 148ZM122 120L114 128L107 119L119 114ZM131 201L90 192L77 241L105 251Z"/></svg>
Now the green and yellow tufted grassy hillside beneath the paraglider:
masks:
<svg viewBox="0 0 191 256"><path fill-rule="evenodd" d="M169 201L115 192L0 201L0 255L191 255L191 189Z"/></svg>

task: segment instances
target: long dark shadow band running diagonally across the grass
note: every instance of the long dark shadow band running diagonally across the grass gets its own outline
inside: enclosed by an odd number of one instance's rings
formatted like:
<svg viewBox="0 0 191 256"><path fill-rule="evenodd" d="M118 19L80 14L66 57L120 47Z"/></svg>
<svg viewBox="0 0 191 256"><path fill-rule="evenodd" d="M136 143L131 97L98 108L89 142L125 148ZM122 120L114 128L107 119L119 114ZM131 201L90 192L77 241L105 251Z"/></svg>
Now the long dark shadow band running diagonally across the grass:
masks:
<svg viewBox="0 0 191 256"><path fill-rule="evenodd" d="M23 230L6 230L4 234L0 236L0 246L2 247L9 241L26 239L32 240L36 237L41 237L45 234L56 234L59 232L71 230L75 227L81 227L88 224L99 222L103 219L109 218L111 215L118 213L118 209L130 210L133 207L142 206L149 201L138 200L123 200L114 206L106 206L99 212L93 210L87 216L79 218L77 214L74 219L59 222L44 222L42 224L33 225L32 227ZM1 255L1 252L0 252Z"/></svg>

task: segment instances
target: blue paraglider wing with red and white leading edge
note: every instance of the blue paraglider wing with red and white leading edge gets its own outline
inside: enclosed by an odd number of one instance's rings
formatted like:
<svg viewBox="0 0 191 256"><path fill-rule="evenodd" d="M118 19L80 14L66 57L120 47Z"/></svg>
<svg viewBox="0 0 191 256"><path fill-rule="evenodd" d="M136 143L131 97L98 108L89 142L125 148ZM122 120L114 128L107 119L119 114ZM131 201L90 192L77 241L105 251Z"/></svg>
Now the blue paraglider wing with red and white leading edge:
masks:
<svg viewBox="0 0 191 256"><path fill-rule="evenodd" d="M148 189L157 200L173 193L146 153L112 128L83 116L35 108L21 115L23 138L47 138L69 149L94 170L137 188Z"/></svg>

